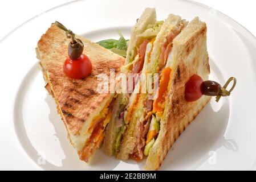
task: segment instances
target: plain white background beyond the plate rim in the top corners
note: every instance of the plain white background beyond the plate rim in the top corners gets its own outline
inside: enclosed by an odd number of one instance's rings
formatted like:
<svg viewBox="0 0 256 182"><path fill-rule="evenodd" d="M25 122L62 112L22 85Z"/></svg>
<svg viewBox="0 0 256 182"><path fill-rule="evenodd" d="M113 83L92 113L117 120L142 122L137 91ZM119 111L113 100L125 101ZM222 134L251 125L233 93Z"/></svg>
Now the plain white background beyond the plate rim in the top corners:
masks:
<svg viewBox="0 0 256 182"><path fill-rule="evenodd" d="M21 25L26 20L36 16L44 11L62 5L63 3L71 2L71 0L8 0L0 1L0 41L14 28ZM230 16L238 23L242 24L247 30L256 35L256 10L255 1L253 0L196 0L207 6L221 11ZM85 9L86 10L86 9Z"/></svg>

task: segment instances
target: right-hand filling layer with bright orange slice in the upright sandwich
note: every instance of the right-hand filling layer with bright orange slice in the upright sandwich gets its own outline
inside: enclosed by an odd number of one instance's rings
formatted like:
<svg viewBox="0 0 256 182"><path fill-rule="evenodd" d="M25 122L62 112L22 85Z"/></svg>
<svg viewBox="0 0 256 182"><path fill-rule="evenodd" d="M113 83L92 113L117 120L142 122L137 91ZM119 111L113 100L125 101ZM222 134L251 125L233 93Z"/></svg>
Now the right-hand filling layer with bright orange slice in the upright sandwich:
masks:
<svg viewBox="0 0 256 182"><path fill-rule="evenodd" d="M185 23L184 23L185 24ZM172 70L174 68L174 60L172 59L172 42L173 39L180 34L184 24L181 23L176 30L172 31L166 36L166 42L161 47L160 58L159 58L159 69L160 69L160 82L157 95L152 102L148 101L148 97L141 94L141 98L144 105L140 105L140 108L144 108L143 111L137 112L139 119L136 128L136 147L130 157L135 160L140 160L144 155L148 155L150 148L155 143L155 139L160 130L160 122L165 109L166 96L169 93L169 85L172 82ZM147 103L147 104L145 104ZM136 114L135 114L136 115Z"/></svg>

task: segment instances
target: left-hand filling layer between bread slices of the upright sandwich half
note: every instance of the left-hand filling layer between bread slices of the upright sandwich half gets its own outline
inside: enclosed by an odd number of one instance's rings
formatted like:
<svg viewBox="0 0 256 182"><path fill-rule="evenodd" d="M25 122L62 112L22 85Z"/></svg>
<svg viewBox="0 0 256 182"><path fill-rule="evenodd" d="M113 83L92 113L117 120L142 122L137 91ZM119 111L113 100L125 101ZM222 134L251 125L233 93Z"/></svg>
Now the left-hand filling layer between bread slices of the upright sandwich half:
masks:
<svg viewBox="0 0 256 182"><path fill-rule="evenodd" d="M129 60L129 63L123 67L123 72L147 73L147 65L150 61L153 43L155 42L156 35L160 31L163 23L163 21L157 21L155 24L148 24L146 30L142 34L137 35L137 37L141 38L141 44L137 45L137 47L132 49L131 59ZM140 90L140 82L135 81L133 85L134 89L136 89L136 86L138 86L138 89ZM129 103L125 107L124 112L120 113L119 115L119 118L124 118L124 122L120 127L119 134L117 135L114 149L115 154L119 152L119 147L123 138L124 131L127 129L125 125L130 125L130 121L134 117L134 113L136 113L135 115L137 116L143 113L143 111L141 110L136 110L139 96L140 94L133 92L129 98ZM144 106L141 108L144 108ZM130 125L129 127L134 130L136 126Z"/></svg>

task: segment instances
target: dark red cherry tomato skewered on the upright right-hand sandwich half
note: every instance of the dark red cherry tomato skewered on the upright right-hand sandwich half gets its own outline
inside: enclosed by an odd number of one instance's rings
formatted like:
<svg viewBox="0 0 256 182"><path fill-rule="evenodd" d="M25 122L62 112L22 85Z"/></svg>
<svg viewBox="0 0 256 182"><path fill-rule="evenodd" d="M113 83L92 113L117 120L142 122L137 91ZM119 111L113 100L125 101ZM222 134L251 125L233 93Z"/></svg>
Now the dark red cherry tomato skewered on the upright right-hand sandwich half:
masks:
<svg viewBox="0 0 256 182"><path fill-rule="evenodd" d="M202 96L202 78L198 75L193 75L186 82L185 99L188 102L198 100Z"/></svg>

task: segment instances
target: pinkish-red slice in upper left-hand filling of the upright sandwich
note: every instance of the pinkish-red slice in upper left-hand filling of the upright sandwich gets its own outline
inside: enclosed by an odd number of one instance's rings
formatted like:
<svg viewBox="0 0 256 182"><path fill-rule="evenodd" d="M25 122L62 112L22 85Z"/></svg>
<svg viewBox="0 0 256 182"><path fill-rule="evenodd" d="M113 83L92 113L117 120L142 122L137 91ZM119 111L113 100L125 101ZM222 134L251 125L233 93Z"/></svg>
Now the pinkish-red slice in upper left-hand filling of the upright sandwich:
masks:
<svg viewBox="0 0 256 182"><path fill-rule="evenodd" d="M145 54L146 54L146 49L147 49L147 44L149 41L145 39L143 43L139 47L139 60L136 61L136 63L132 67L132 73L140 73L141 70L143 69L143 64L145 60Z"/></svg>

